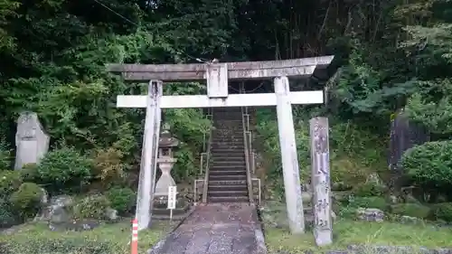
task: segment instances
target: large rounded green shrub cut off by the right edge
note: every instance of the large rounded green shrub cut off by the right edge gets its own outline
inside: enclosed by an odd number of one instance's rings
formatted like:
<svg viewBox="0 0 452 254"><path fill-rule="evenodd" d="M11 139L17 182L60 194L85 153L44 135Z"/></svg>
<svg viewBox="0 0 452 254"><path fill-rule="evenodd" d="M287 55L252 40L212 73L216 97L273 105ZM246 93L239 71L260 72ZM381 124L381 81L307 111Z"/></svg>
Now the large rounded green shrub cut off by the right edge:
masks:
<svg viewBox="0 0 452 254"><path fill-rule="evenodd" d="M401 165L415 183L444 192L452 184L452 141L414 146L402 156Z"/></svg>

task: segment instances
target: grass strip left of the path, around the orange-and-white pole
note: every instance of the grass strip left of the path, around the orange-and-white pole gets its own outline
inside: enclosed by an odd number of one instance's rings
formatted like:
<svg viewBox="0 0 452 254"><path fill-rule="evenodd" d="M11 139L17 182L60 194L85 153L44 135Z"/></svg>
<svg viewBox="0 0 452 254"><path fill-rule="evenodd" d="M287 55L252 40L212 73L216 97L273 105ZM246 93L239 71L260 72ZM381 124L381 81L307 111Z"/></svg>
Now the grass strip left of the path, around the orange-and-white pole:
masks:
<svg viewBox="0 0 452 254"><path fill-rule="evenodd" d="M138 235L140 253L146 253L171 230L168 222L155 222L152 229ZM128 254L131 223L118 222L81 232L51 231L43 223L20 226L12 234L0 234L2 254Z"/></svg>

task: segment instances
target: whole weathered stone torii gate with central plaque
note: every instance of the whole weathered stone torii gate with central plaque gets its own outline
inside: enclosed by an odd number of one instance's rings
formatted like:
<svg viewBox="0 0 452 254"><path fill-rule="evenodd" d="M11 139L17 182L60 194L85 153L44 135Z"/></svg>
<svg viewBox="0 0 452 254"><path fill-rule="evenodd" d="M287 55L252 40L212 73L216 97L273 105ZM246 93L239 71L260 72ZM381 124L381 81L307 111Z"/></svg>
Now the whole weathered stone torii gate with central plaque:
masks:
<svg viewBox="0 0 452 254"><path fill-rule="evenodd" d="M285 61L208 62L195 64L108 64L125 80L148 81L147 95L118 95L118 108L146 108L142 164L137 194L138 229L149 226L155 189L157 146L162 108L276 106L286 193L292 233L305 230L292 104L322 104L323 90L290 91L287 77L307 78L325 68L334 56ZM275 93L229 94L228 80L274 79ZM163 96L163 81L206 80L206 95Z"/></svg>

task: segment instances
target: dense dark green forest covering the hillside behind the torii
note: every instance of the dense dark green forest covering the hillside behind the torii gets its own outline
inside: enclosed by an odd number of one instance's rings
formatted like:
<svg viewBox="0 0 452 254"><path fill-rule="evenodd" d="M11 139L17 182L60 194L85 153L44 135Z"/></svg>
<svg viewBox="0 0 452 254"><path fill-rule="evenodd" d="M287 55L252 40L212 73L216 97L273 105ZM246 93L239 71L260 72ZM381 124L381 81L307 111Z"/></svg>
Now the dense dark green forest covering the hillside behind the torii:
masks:
<svg viewBox="0 0 452 254"><path fill-rule="evenodd" d="M428 127L433 140L452 134L448 0L0 0L0 36L2 166L10 169L18 113L37 112L52 136L54 152L32 178L52 193L80 192L80 183L108 189L137 177L144 112L117 109L115 102L118 94L146 86L125 84L108 74L108 62L263 61L334 54L340 68L327 83L326 106L295 112L302 168L309 155L303 145L308 137L304 120L330 118L337 177L355 175L353 168L388 171L390 121L399 108L412 122ZM198 83L170 84L165 93L203 89ZM275 119L265 110L258 115L261 148L278 157ZM199 109L165 110L165 121L183 141L176 178L195 177L210 123ZM419 185L428 190L439 186L450 194L452 149L447 141L430 145L419 148L406 168ZM89 158L90 165L68 166L80 165L77 156ZM426 164L422 172L417 159ZM266 174L280 176L275 165ZM438 172L425 174L429 168Z"/></svg>

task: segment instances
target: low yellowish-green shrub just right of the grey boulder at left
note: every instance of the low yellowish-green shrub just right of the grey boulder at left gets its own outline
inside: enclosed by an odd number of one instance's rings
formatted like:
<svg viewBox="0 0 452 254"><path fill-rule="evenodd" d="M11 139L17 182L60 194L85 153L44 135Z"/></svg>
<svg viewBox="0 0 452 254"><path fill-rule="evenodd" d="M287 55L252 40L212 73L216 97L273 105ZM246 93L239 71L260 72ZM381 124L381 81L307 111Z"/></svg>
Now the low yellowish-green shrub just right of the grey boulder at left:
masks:
<svg viewBox="0 0 452 254"><path fill-rule="evenodd" d="M87 196L74 205L73 212L77 219L103 220L105 212L110 206L107 197L100 194Z"/></svg>

